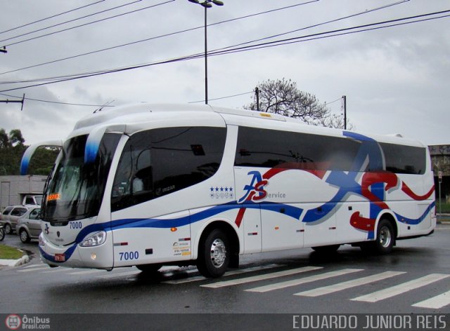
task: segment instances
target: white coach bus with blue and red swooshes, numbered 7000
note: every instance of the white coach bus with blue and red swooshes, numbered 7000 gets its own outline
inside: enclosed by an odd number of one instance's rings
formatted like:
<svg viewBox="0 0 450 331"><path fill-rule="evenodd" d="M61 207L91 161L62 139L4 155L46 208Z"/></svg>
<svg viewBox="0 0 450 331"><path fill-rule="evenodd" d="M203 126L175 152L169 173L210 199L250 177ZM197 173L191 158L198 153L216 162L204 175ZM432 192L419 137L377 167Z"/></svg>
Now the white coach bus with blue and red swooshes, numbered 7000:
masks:
<svg viewBox="0 0 450 331"><path fill-rule="evenodd" d="M41 213L51 266L196 264L219 277L255 252L349 243L385 254L436 224L428 148L403 137L138 104L95 112L45 144L62 146Z"/></svg>

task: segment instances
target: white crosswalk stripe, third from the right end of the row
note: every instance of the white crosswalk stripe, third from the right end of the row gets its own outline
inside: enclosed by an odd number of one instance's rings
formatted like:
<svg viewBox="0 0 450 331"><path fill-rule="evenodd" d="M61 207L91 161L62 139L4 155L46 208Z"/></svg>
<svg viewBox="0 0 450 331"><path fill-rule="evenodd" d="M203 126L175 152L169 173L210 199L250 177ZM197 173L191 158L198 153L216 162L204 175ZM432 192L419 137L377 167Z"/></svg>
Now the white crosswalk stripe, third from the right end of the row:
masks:
<svg viewBox="0 0 450 331"><path fill-rule="evenodd" d="M360 285L366 285L368 283L373 283L376 281L382 281L383 279L394 277L406 273L404 271L385 271L382 273L377 273L375 275L362 277L354 279L352 281L346 281L343 283L333 284L329 286L323 286L322 288L314 288L313 290L298 292L294 295L299 295L302 297L319 297L319 295L328 295L330 293L347 290L348 288L354 288Z"/></svg>

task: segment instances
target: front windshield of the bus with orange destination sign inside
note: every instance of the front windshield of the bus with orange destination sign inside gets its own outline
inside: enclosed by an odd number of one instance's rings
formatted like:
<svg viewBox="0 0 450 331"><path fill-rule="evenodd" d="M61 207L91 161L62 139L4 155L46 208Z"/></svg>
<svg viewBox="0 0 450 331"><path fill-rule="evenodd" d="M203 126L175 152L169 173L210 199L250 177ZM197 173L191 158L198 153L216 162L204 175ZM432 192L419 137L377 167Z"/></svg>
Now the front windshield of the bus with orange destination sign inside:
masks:
<svg viewBox="0 0 450 331"><path fill-rule="evenodd" d="M103 136L94 163L84 163L87 135L73 137L63 146L49 185L41 217L44 221L70 221L98 215L111 161L120 135Z"/></svg>

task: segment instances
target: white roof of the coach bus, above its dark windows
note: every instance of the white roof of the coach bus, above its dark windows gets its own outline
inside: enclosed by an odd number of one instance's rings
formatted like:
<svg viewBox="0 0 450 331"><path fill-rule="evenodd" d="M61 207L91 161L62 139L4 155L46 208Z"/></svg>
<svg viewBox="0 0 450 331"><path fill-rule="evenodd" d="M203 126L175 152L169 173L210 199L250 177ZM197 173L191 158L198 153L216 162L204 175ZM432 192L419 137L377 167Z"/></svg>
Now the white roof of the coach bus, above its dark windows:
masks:
<svg viewBox="0 0 450 331"><path fill-rule="evenodd" d="M342 137L343 131L342 129L307 125L299 119L293 119L279 114L214 107L208 104L139 103L108 109L98 109L93 114L79 120L69 137L91 133L91 130L98 126L111 126L110 131L117 129L120 132L132 134L139 130L149 128L148 123L156 122L155 126L158 126L163 125L163 121L171 123L171 126L193 125L191 123L198 124L198 121L202 121L205 126L256 126L260 128L293 130L337 137ZM417 140L404 138L398 134L371 135L364 133L364 135L378 142L425 147L424 144Z"/></svg>

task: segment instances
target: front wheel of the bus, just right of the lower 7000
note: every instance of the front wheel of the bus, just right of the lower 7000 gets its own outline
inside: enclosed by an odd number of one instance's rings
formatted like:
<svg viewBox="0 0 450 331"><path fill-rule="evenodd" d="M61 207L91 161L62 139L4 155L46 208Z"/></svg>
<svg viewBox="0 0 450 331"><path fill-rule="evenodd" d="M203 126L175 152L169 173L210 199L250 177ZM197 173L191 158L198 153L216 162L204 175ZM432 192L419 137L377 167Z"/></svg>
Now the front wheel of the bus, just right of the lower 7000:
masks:
<svg viewBox="0 0 450 331"><path fill-rule="evenodd" d="M207 234L198 248L197 268L207 278L222 276L230 262L229 239L221 229Z"/></svg>

